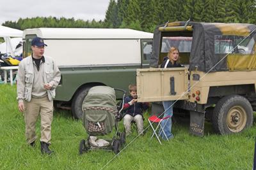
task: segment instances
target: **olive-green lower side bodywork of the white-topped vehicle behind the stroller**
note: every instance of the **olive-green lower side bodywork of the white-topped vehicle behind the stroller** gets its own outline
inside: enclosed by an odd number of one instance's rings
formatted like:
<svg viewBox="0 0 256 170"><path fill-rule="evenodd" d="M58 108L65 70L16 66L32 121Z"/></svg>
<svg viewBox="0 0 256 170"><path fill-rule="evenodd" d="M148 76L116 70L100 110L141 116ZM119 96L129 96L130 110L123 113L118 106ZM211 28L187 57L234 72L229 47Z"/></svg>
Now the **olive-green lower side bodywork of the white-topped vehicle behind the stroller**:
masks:
<svg viewBox="0 0 256 170"><path fill-rule="evenodd" d="M77 89L86 85L108 85L127 90L130 83L136 83L137 66L88 66L62 68L61 83L56 89L56 101L70 101Z"/></svg>

